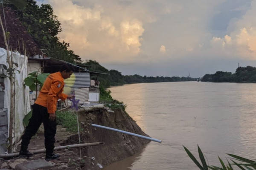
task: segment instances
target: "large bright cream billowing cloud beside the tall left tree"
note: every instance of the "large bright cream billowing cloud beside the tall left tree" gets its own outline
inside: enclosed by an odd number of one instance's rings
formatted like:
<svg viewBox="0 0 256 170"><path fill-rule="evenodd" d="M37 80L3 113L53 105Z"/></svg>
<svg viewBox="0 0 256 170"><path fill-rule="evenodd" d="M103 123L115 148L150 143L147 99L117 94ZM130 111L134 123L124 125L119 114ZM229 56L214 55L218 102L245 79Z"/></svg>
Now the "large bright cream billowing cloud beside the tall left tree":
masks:
<svg viewBox="0 0 256 170"><path fill-rule="evenodd" d="M82 59L129 62L140 54L144 28L136 17L115 17L118 11L112 14L97 3L93 7L79 6L71 0L49 3L62 24L60 39L70 42L70 48Z"/></svg>

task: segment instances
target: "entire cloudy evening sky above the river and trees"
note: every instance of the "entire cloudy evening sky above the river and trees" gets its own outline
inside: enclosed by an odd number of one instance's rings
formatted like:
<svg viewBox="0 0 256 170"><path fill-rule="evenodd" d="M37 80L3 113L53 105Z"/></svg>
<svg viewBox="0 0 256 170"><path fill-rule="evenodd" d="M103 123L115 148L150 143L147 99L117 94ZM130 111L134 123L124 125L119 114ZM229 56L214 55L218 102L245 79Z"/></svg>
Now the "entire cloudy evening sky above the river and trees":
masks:
<svg viewBox="0 0 256 170"><path fill-rule="evenodd" d="M82 60L123 75L202 77L256 66L256 0L37 0Z"/></svg>

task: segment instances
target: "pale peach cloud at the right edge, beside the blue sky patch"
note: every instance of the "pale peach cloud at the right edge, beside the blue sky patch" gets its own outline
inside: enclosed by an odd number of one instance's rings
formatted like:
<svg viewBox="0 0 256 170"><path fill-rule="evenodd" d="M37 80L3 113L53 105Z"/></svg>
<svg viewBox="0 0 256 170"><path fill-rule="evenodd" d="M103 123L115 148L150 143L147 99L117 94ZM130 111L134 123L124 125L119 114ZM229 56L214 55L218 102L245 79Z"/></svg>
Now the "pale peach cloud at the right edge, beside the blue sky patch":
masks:
<svg viewBox="0 0 256 170"><path fill-rule="evenodd" d="M256 60L256 1L253 0L251 8L237 20L231 23L233 31L224 37L213 37L212 47L222 45L222 51L230 56L239 56L244 59Z"/></svg>

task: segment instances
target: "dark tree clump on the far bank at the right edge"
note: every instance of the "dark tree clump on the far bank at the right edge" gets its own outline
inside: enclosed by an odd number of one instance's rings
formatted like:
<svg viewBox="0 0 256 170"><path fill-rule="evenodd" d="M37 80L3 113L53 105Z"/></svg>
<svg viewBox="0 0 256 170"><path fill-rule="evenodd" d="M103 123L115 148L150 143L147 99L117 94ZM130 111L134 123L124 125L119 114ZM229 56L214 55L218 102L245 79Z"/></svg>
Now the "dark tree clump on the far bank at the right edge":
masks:
<svg viewBox="0 0 256 170"><path fill-rule="evenodd" d="M256 67L239 67L235 73L217 71L215 74L205 74L202 82L256 82Z"/></svg>

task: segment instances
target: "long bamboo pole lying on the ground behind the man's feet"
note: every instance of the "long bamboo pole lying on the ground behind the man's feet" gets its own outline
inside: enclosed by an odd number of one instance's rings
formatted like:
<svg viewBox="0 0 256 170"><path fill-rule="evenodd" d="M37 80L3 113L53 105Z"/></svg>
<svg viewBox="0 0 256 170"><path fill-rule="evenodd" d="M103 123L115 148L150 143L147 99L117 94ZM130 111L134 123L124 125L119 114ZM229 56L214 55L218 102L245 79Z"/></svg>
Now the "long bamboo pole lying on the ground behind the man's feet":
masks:
<svg viewBox="0 0 256 170"><path fill-rule="evenodd" d="M94 143L83 143L83 144L70 144L70 145L66 145L66 146L58 146L58 147L54 147L54 150L62 150L62 149L66 149L66 148L73 148L73 147L86 147L86 146L97 146L100 144L104 144L104 142L94 142ZM44 153L46 149L38 149L38 150L33 150L31 151L32 153L36 154L36 153ZM0 154L0 158L12 158L12 157L16 157L19 156L19 153L6 153L6 154Z"/></svg>

